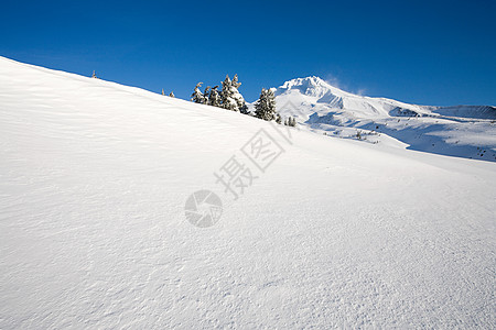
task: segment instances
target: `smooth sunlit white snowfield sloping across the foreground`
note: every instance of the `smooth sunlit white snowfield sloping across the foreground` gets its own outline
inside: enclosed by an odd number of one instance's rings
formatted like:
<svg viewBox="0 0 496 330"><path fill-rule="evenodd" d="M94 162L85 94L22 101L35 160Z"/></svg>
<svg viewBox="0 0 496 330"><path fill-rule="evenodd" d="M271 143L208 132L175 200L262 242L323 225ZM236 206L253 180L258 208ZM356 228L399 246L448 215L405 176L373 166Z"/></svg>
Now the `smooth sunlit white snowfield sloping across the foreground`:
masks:
<svg viewBox="0 0 496 330"><path fill-rule="evenodd" d="M291 132L0 57L0 328L496 328L495 163Z"/></svg>

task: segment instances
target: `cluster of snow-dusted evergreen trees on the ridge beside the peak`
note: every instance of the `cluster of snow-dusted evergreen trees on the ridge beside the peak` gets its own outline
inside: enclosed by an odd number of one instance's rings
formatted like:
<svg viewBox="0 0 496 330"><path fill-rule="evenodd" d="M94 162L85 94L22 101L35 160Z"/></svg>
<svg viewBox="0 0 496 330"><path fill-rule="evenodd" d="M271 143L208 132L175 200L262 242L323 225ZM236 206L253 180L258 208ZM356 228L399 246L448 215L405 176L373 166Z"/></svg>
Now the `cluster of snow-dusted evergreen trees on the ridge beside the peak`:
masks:
<svg viewBox="0 0 496 330"><path fill-rule="evenodd" d="M244 114L251 114L246 106L245 98L238 90L239 86L241 86L241 82L238 81L238 75L235 75L233 80L229 78L229 75L226 75L226 79L222 82L223 87L220 91L218 90L219 86L217 85L214 87L207 86L202 92L202 85L203 82L196 84L196 87L191 95L191 101L241 112ZM276 111L276 96L273 89L262 88L260 98L255 103L254 116L266 121L274 120L279 124L282 123L281 116ZM295 127L296 120L289 117L284 120L284 125Z"/></svg>

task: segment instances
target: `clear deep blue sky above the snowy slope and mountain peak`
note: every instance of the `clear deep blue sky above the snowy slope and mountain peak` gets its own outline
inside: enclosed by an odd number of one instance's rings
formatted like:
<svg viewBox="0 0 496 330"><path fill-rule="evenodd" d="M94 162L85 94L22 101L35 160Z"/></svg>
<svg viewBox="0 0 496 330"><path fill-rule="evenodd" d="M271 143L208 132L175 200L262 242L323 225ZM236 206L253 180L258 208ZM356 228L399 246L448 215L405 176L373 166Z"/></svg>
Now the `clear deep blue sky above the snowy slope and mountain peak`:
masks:
<svg viewBox="0 0 496 330"><path fill-rule="evenodd" d="M238 74L320 76L421 105L496 106L496 1L2 0L0 55L188 98Z"/></svg>

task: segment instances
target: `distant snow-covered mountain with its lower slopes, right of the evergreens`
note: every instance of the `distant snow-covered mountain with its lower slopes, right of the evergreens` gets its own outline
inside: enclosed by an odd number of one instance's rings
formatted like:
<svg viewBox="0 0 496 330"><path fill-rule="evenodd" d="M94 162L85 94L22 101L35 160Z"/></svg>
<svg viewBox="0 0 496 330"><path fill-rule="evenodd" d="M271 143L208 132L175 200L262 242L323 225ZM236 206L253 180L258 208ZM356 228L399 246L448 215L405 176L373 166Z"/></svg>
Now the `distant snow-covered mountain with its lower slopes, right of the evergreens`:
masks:
<svg viewBox="0 0 496 330"><path fill-rule="evenodd" d="M296 117L300 124L320 133L496 161L495 107L408 105L353 95L319 77L289 80L276 95L283 117Z"/></svg>

